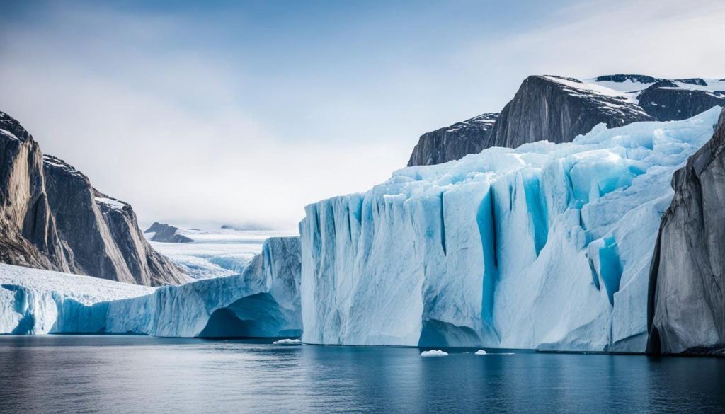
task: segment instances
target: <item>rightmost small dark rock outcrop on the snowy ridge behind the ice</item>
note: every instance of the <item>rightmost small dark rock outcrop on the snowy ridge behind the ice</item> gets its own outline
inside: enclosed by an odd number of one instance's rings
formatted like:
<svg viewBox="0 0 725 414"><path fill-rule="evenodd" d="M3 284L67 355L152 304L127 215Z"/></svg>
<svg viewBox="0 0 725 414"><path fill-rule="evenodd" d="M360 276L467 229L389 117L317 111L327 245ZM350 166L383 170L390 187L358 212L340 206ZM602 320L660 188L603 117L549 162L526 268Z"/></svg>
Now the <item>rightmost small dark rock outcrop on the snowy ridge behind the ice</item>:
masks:
<svg viewBox="0 0 725 414"><path fill-rule="evenodd" d="M704 80L700 80L707 85ZM686 83L701 85L697 80ZM712 107L725 106L724 96L709 91L680 88L669 80L660 80L645 89L637 98L642 109L662 121L686 120Z"/></svg>

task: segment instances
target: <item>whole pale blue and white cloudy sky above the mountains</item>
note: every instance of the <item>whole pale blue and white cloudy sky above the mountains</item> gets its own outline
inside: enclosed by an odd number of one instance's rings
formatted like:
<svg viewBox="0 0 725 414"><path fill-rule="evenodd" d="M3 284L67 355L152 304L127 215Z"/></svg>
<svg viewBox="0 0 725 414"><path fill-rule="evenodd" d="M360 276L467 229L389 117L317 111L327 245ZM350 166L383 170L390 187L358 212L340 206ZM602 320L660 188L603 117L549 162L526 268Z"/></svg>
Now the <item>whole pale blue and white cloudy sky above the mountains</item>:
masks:
<svg viewBox="0 0 725 414"><path fill-rule="evenodd" d="M0 110L142 224L294 228L528 75L725 78L725 2L4 1Z"/></svg>

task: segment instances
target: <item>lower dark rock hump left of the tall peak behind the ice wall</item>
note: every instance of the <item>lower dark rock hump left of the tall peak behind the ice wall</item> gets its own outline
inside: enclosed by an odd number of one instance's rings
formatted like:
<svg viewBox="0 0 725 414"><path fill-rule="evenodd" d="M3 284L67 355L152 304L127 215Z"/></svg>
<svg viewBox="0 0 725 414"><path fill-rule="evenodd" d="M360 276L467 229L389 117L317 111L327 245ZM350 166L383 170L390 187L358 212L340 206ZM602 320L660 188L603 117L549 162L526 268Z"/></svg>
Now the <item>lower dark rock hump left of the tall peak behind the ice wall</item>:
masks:
<svg viewBox="0 0 725 414"><path fill-rule="evenodd" d="M498 113L479 115L424 133L410 155L408 167L441 164L483 151L498 116Z"/></svg>

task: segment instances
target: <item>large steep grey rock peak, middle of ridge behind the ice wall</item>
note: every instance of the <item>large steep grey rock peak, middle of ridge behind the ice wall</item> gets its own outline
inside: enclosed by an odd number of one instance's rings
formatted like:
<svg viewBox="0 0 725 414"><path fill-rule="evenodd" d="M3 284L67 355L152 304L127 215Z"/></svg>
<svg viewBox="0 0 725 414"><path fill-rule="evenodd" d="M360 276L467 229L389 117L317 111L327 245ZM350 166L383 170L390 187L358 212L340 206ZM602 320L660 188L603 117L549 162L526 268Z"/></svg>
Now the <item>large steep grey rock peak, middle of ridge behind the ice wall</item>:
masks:
<svg viewBox="0 0 725 414"><path fill-rule="evenodd" d="M648 120L654 118L624 96L600 94L576 79L529 76L501 111L484 148L571 142L599 123L614 128Z"/></svg>

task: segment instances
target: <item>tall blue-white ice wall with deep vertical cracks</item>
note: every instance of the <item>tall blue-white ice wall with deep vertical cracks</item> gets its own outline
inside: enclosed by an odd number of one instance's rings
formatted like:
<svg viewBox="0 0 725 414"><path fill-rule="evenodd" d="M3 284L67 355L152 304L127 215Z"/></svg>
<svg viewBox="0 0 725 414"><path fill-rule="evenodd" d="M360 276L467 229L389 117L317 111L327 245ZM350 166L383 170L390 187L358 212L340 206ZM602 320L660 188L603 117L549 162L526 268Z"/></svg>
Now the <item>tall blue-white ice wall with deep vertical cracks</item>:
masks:
<svg viewBox="0 0 725 414"><path fill-rule="evenodd" d="M643 351L671 176L718 112L486 149L310 204L303 340Z"/></svg>

